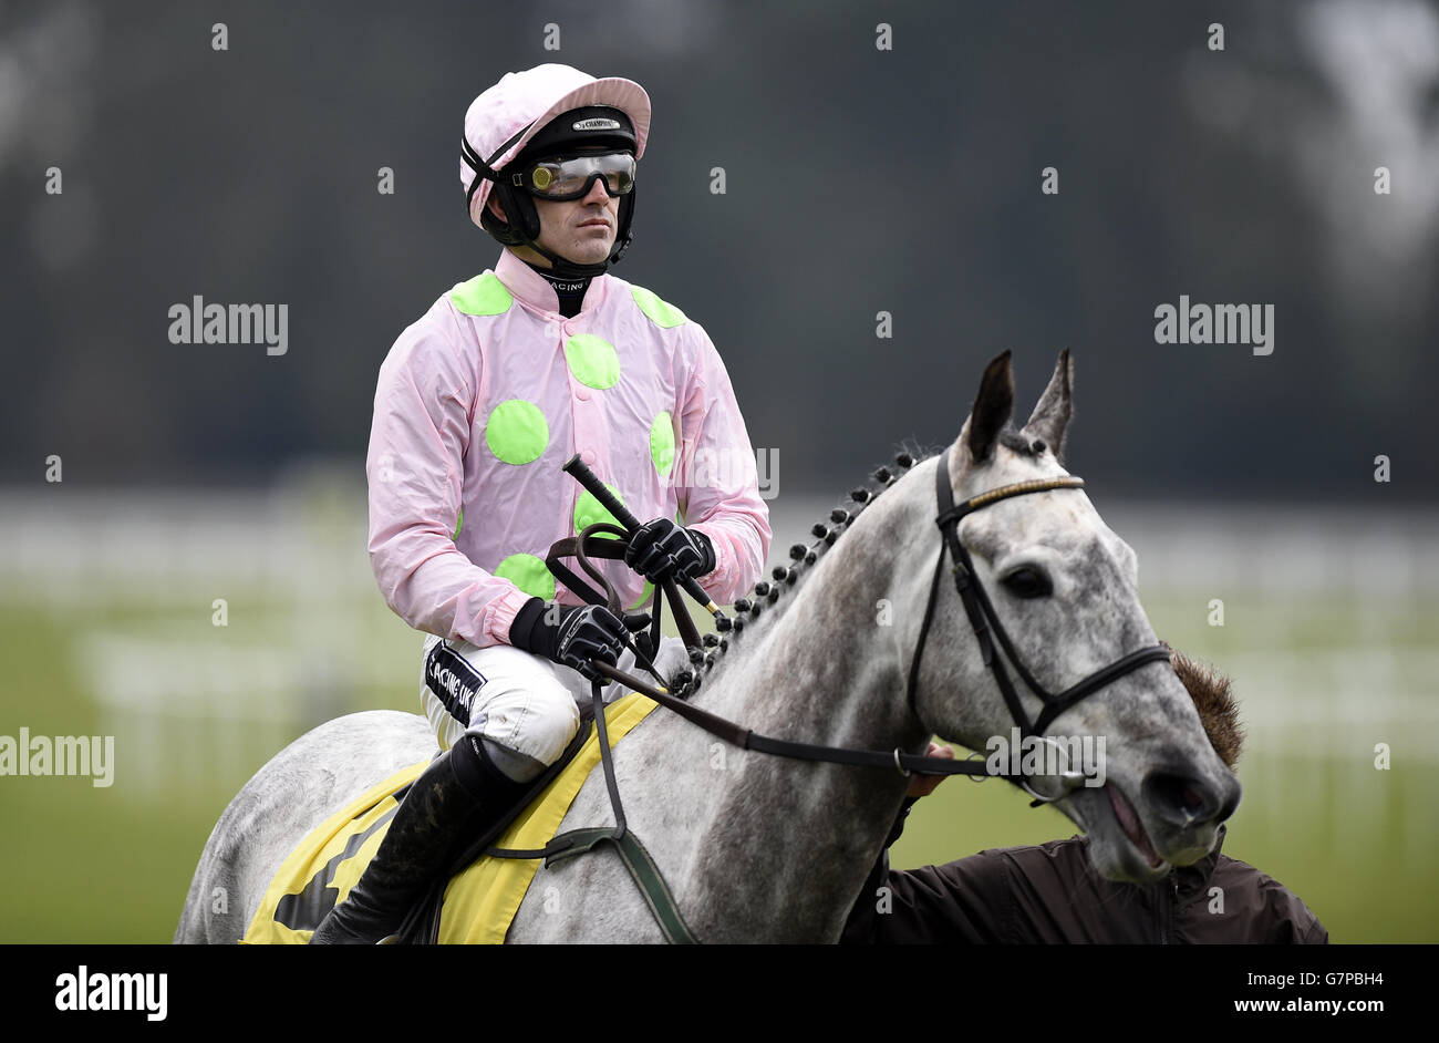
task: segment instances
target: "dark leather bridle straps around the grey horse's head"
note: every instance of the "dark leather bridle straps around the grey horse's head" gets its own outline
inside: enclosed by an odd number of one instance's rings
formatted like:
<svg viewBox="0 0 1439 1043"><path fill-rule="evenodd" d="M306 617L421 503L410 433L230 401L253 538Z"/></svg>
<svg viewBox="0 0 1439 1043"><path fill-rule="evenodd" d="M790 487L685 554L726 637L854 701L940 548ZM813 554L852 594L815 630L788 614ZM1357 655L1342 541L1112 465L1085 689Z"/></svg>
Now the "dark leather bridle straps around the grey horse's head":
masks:
<svg viewBox="0 0 1439 1043"><path fill-rule="evenodd" d="M940 508L940 516L934 519L935 525L940 527L940 560L934 567L934 581L930 584L930 604L924 610L924 623L920 626L920 640L915 645L914 662L909 665L908 698L911 711L915 708L914 693L920 678L920 660L924 656L924 643L930 634L930 623L934 620L934 606L938 601L940 577L944 574L945 554L954 558L954 565L951 567L951 571L954 573L954 588L958 591L960 603L964 606L964 614L968 616L970 626L974 629L974 639L980 643L980 655L984 657L984 665L994 675L994 682L999 685L999 691L1004 695L1004 702L1009 705L1010 716L1013 716L1022 737L1043 735L1045 729L1053 724L1056 716L1063 714L1086 695L1092 695L1099 691L1109 682L1118 680L1127 673L1132 673L1148 663L1170 662L1168 649L1163 645L1150 645L1138 652L1131 652L1122 659L1117 659L1108 666L1099 668L1088 678L1071 685L1058 695L1050 693L1043 688L1043 685L1035 680L1035 675L1029 672L1023 660L1019 657L1019 653L1014 652L1014 643L1009 639L1004 624L1000 623L999 616L994 613L994 606L990 603L989 594L986 594L984 587L980 586L979 574L974 571L974 563L970 560L970 552L966 550L964 544L960 542L960 521L963 521L966 515L989 506L990 504L997 504L1002 499L1010 499L1012 496L1026 496L1032 492L1050 492L1053 489L1082 488L1082 478L1066 476L1035 479L1032 482L1017 482L1014 485L1003 485L997 489L981 492L979 496L973 496L955 506L954 493L950 491L948 450L940 456L940 466L934 470L934 492ZM1019 701L1019 693L1014 691L1014 683L1010 680L1009 672L1004 669L1004 660L994 655L996 640L1004 650L1009 662L1013 663L1014 670L1029 686L1029 691L1038 695L1039 701L1045 705L1039 714L1039 719L1033 725L1030 725L1029 715L1025 712L1025 708Z"/></svg>

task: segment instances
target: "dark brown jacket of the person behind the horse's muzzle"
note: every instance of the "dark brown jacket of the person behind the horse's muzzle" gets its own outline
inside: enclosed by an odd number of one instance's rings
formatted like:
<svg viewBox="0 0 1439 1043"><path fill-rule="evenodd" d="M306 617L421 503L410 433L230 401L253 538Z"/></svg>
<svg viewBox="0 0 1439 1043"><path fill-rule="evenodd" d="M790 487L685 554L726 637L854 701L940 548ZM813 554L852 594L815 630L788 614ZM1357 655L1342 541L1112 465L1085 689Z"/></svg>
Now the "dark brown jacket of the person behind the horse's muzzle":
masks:
<svg viewBox="0 0 1439 1043"><path fill-rule="evenodd" d="M840 941L1327 944L1308 906L1222 855L1223 839L1220 830L1213 853L1151 885L1105 880L1082 836L914 870L889 869L881 856Z"/></svg>

